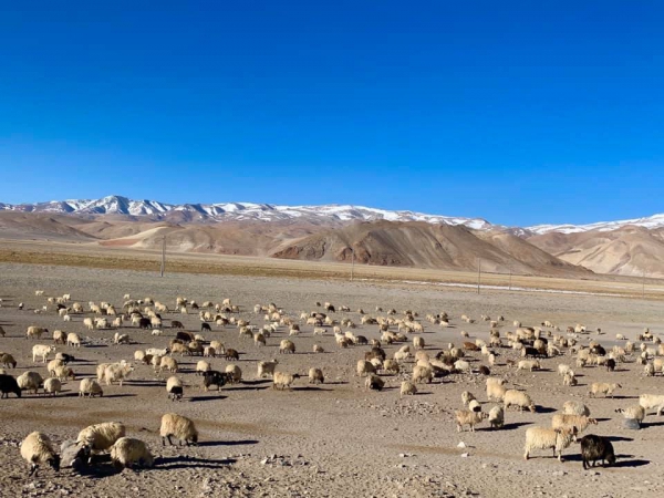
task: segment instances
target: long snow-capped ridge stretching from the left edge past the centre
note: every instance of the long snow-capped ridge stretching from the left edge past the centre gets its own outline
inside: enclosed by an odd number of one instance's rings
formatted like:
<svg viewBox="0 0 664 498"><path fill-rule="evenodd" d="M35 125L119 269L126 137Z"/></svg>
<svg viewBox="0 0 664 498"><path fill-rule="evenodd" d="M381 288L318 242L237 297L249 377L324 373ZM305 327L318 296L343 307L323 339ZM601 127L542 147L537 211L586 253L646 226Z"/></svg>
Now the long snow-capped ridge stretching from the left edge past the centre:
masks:
<svg viewBox="0 0 664 498"><path fill-rule="evenodd" d="M328 219L335 221L427 221L432 224L464 225L477 230L492 227L480 218L458 218L426 215L414 211L392 211L364 206L323 205L323 206L277 206L255 203L183 204L172 205L155 200L131 200L122 196L107 196L95 200L52 200L49 203L9 205L0 203L0 210L23 212L54 212L80 215L127 215L162 218L178 211L193 215L200 220L289 220Z"/></svg>

